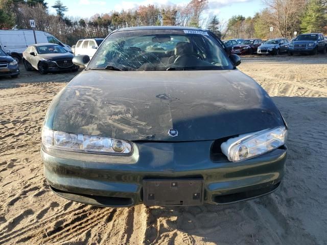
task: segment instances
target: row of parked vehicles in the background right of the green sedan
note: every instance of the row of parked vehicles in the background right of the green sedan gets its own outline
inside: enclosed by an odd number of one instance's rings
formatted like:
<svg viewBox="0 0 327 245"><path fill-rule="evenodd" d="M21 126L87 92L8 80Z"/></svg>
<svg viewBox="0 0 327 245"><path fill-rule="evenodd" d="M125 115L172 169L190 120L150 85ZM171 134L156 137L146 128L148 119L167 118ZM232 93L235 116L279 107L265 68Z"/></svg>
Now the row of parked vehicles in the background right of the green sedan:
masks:
<svg viewBox="0 0 327 245"><path fill-rule="evenodd" d="M225 40L226 49L232 54L272 54L278 55L288 53L317 54L321 52L327 53L327 39L321 33L301 34L290 41L286 38L274 38L263 42L261 39L245 39L241 44L236 43L236 40Z"/></svg>

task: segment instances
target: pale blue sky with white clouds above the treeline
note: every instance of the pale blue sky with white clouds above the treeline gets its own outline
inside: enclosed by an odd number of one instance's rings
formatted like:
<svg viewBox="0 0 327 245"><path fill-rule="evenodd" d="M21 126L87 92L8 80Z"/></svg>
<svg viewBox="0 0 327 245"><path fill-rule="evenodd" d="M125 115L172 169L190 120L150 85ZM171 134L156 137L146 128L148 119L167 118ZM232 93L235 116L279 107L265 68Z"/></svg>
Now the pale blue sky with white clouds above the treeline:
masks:
<svg viewBox="0 0 327 245"><path fill-rule="evenodd" d="M245 17L253 16L255 12L263 9L261 0L208 0L206 15L217 14L219 19L228 20L232 15L243 15ZM51 8L56 0L46 0L50 7L50 12L55 10ZM154 4L161 5L185 5L187 0L61 0L68 7L67 16L88 18L96 13L108 13L112 10L121 11L122 9L131 9L138 5Z"/></svg>

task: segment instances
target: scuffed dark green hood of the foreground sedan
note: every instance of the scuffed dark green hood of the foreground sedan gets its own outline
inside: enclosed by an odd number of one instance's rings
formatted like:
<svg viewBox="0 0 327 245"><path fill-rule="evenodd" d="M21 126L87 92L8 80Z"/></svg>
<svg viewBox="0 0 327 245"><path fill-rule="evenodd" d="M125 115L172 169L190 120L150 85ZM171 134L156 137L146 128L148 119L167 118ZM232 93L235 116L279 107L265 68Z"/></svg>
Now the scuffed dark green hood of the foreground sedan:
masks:
<svg viewBox="0 0 327 245"><path fill-rule="evenodd" d="M237 69L83 71L50 111L53 130L126 140L213 140L284 125L265 90Z"/></svg>

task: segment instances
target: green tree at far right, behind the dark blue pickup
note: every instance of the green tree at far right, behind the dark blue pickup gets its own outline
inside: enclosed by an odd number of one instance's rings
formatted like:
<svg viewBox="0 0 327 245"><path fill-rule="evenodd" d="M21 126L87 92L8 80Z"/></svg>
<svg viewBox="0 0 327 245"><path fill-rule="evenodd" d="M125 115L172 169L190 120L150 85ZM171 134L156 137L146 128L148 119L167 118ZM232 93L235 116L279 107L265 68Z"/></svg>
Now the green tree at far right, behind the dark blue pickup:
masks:
<svg viewBox="0 0 327 245"><path fill-rule="evenodd" d="M310 0L301 18L302 33L322 32L327 24L327 7L324 0Z"/></svg>

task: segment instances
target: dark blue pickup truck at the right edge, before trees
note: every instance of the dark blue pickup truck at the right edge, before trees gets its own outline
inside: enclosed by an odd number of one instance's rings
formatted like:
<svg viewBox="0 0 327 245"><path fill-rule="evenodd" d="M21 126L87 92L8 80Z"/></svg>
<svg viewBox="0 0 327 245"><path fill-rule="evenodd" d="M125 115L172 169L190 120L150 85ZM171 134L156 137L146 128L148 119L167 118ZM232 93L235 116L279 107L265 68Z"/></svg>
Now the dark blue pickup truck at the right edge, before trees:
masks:
<svg viewBox="0 0 327 245"><path fill-rule="evenodd" d="M316 55L318 52L327 52L327 41L321 33L307 33L297 36L288 47L289 55L294 53L309 53Z"/></svg>

